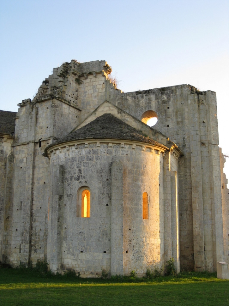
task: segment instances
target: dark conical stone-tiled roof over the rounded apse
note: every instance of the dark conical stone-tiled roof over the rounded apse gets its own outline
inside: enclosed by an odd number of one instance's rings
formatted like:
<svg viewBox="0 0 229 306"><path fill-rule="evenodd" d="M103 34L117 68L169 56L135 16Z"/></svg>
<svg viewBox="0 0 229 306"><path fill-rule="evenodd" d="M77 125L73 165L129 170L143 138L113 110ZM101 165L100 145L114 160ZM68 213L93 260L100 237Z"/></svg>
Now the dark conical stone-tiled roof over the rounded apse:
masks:
<svg viewBox="0 0 229 306"><path fill-rule="evenodd" d="M140 131L126 124L122 120L116 118L112 114L103 114L102 116L96 118L95 120L84 125L80 129L69 133L67 136L61 138L60 140L53 142L48 147L45 148L45 155L47 150L61 144L64 142L72 142L75 140L86 140L86 139L122 139L122 140L132 140L138 142L146 142L150 144L155 144L160 147L166 148L163 144L148 138L141 134Z"/></svg>

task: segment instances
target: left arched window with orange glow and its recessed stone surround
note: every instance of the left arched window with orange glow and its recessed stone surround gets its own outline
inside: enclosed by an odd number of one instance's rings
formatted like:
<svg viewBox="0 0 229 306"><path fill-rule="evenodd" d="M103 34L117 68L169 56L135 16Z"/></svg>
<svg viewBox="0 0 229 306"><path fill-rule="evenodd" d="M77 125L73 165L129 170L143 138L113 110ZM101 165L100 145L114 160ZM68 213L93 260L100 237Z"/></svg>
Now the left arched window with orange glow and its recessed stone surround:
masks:
<svg viewBox="0 0 229 306"><path fill-rule="evenodd" d="M90 217L90 188L83 186L78 189L77 217Z"/></svg>

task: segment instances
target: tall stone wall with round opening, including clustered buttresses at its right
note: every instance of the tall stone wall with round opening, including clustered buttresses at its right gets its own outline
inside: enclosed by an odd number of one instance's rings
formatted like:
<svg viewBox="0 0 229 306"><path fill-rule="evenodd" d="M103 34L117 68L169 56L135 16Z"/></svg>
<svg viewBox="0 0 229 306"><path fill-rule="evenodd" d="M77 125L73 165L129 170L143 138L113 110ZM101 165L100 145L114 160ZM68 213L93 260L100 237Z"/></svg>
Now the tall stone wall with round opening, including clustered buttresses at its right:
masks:
<svg viewBox="0 0 229 306"><path fill-rule="evenodd" d="M181 267L216 270L223 260L218 126L215 92L178 85L139 92L110 92L108 99L134 117L157 113L154 128L183 151L179 166ZM192 172L191 172L192 169ZM217 243L215 243L216 241ZM210 245L212 244L212 245Z"/></svg>

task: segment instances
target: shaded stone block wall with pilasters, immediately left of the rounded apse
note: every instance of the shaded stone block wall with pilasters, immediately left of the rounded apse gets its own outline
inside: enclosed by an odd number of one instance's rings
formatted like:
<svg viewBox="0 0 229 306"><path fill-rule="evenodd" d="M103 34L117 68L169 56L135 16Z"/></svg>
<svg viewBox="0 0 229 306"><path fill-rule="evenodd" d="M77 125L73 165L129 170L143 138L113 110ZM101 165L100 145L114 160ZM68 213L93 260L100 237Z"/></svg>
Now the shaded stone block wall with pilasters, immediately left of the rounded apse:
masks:
<svg viewBox="0 0 229 306"><path fill-rule="evenodd" d="M45 147L77 125L79 110L57 99L19 108L14 150L14 198L11 262L47 257L49 161Z"/></svg>

